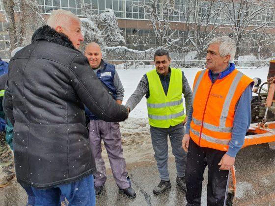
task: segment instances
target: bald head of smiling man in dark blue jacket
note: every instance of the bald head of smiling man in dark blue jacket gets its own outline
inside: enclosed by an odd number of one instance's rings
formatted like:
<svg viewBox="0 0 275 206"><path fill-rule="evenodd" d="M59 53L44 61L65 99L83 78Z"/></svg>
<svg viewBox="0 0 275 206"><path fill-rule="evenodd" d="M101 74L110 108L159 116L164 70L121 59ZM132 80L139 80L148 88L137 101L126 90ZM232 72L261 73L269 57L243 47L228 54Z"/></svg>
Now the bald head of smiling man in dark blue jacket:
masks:
<svg viewBox="0 0 275 206"><path fill-rule="evenodd" d="M89 43L85 48L85 56L88 58L90 66L97 69L102 60L102 52L100 46L95 43Z"/></svg>

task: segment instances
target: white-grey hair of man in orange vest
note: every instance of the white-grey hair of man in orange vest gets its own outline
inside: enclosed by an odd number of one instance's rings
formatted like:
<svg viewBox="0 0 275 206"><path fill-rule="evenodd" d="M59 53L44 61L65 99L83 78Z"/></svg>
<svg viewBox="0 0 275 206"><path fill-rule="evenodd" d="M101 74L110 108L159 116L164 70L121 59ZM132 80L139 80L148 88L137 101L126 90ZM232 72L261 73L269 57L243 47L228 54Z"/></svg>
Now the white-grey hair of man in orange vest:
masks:
<svg viewBox="0 0 275 206"><path fill-rule="evenodd" d="M236 42L233 39L229 38L228 36L221 36L221 37L212 39L209 45L211 44L220 44L220 47L219 47L220 56L223 57L229 54L230 61L234 60L237 47L236 47Z"/></svg>

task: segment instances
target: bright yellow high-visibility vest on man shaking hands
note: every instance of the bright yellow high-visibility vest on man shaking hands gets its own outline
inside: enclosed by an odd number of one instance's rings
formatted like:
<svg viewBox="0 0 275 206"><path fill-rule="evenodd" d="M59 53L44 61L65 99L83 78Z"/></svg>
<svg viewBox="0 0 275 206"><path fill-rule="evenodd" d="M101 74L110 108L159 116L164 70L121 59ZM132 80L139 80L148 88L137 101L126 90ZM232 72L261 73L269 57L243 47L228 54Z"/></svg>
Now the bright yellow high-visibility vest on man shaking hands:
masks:
<svg viewBox="0 0 275 206"><path fill-rule="evenodd" d="M157 128L169 128L185 119L182 99L182 71L171 68L167 96L156 70L146 73L150 96L147 98L149 124Z"/></svg>

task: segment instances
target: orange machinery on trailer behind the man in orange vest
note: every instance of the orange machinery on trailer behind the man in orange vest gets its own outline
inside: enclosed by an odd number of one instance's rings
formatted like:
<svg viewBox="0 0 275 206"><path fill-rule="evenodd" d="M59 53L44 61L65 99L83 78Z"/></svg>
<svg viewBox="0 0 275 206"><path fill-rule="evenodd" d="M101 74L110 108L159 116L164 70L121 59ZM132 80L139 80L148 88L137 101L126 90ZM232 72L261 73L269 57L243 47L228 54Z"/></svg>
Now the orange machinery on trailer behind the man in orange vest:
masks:
<svg viewBox="0 0 275 206"><path fill-rule="evenodd" d="M267 81L254 78L251 101L251 125L244 147L268 143L275 150L275 60L270 61ZM236 192L235 168L230 170L226 205L232 206Z"/></svg>

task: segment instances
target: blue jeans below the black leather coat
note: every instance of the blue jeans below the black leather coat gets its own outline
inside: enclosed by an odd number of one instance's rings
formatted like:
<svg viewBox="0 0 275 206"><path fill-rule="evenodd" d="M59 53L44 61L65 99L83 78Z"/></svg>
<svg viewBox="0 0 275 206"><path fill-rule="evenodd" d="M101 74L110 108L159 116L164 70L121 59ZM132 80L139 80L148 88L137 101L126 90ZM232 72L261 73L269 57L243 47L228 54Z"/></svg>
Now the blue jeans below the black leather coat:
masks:
<svg viewBox="0 0 275 206"><path fill-rule="evenodd" d="M50 189L31 188L35 196L35 206L59 206L60 196L64 196L70 206L95 206L93 175Z"/></svg>

